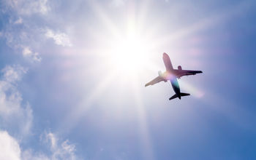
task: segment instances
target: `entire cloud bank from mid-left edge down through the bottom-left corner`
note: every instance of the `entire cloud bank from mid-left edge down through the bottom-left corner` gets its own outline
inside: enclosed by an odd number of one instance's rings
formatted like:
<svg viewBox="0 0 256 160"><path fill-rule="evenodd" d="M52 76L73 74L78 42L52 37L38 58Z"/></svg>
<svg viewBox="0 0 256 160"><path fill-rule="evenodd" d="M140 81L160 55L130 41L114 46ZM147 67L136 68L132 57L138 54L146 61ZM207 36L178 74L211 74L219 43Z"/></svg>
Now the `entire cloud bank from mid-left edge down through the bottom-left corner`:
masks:
<svg viewBox="0 0 256 160"><path fill-rule="evenodd" d="M17 83L27 69L20 65L6 66L1 70L0 79L0 126L1 129L15 130L18 137L31 132L33 111L29 103L23 105L23 98L18 92ZM69 140L59 140L53 132L45 132L39 142L44 142L48 152L23 149L7 131L0 130L0 159L10 160L75 160L75 145ZM22 141L21 141L22 143ZM48 154L47 154L48 153Z"/></svg>

